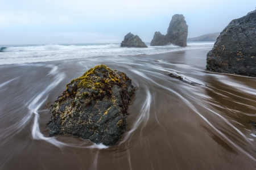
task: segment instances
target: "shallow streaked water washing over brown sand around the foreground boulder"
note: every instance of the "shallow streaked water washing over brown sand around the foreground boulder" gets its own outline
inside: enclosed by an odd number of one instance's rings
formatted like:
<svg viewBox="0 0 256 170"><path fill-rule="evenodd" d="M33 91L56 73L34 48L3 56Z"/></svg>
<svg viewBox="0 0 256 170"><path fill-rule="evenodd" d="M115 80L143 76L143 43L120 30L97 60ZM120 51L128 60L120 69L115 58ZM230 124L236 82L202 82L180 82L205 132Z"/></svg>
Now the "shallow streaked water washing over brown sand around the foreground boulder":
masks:
<svg viewBox="0 0 256 170"><path fill-rule="evenodd" d="M0 169L255 168L256 79L205 70L209 50L1 65ZM106 147L48 137L49 106L100 64L137 88L122 140Z"/></svg>

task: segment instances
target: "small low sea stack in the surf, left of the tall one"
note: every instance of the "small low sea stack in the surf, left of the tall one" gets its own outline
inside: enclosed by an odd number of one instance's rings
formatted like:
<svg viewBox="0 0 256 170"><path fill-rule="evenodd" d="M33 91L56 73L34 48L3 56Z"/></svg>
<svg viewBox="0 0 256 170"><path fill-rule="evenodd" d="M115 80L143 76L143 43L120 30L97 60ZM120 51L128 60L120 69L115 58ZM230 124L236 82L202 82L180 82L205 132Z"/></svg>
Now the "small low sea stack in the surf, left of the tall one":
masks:
<svg viewBox="0 0 256 170"><path fill-rule="evenodd" d="M137 35L127 33L125 39L121 43L122 47L147 48L147 45Z"/></svg>

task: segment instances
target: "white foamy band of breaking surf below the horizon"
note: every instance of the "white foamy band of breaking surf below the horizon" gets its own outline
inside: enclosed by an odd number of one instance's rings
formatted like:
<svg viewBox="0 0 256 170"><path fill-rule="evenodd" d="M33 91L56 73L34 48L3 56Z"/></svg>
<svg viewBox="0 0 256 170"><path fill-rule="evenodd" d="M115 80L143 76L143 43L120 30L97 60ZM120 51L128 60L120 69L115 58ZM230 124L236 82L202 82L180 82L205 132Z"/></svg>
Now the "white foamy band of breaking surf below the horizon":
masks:
<svg viewBox="0 0 256 170"><path fill-rule="evenodd" d="M146 43L148 44L148 43ZM213 42L192 42L186 47L176 45L150 46L148 48L121 48L117 44L80 44L80 45L27 45L2 47L0 65L79 59L88 57L141 57L151 54L176 52L180 50L212 48Z"/></svg>

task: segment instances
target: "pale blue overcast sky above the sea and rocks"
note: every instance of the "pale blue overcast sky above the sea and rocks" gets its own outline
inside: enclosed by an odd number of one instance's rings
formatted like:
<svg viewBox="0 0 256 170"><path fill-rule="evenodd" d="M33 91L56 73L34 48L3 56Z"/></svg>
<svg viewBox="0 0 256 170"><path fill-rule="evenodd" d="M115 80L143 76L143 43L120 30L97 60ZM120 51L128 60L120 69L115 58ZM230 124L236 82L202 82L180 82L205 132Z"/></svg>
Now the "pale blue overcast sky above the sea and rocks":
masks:
<svg viewBox="0 0 256 170"><path fill-rule="evenodd" d="M0 44L115 43L131 32L150 42L183 14L188 37L221 32L255 0L0 0Z"/></svg>

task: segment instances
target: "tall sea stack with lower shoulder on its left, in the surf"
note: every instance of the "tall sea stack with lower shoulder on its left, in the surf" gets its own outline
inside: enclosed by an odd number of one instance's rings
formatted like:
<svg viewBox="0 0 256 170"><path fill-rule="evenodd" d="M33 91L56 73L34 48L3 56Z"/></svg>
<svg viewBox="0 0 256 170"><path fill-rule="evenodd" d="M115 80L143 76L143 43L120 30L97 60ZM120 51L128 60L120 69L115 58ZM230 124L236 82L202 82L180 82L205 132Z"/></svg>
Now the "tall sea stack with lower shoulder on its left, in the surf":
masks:
<svg viewBox="0 0 256 170"><path fill-rule="evenodd" d="M185 17L183 15L175 14L172 16L167 34L162 35L160 32L155 32L155 35L150 42L151 46L162 45L179 45L187 46L188 37L188 25L186 24Z"/></svg>

